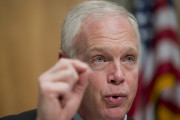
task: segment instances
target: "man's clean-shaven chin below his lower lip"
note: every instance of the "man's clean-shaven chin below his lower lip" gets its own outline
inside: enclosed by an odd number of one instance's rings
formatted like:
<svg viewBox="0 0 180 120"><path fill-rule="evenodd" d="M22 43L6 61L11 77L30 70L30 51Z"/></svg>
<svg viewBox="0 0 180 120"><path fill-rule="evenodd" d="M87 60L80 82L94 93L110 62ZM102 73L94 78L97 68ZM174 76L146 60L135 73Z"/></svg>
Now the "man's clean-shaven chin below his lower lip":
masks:
<svg viewBox="0 0 180 120"><path fill-rule="evenodd" d="M113 120L123 120L126 115L126 110L122 108L108 108L105 112L105 117Z"/></svg>

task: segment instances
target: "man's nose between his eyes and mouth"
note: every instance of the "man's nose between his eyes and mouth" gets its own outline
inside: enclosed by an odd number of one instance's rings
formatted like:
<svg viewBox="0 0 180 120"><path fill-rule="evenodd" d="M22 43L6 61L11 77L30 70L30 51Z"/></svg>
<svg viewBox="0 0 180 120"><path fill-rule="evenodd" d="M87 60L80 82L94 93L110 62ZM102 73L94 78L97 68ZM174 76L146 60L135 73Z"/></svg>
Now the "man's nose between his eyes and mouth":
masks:
<svg viewBox="0 0 180 120"><path fill-rule="evenodd" d="M125 81L124 71L120 64L113 64L108 75L108 83L119 85Z"/></svg>

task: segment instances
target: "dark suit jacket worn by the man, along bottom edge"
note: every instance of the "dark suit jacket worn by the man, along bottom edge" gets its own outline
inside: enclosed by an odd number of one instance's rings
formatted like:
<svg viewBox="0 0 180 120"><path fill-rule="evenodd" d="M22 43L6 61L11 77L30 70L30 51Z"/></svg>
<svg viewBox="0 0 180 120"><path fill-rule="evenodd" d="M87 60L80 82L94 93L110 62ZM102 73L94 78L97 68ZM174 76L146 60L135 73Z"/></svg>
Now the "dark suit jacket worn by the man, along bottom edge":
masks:
<svg viewBox="0 0 180 120"><path fill-rule="evenodd" d="M36 110L23 112L17 115L9 115L0 118L0 120L36 120ZM127 120L133 120L133 119L128 117Z"/></svg>

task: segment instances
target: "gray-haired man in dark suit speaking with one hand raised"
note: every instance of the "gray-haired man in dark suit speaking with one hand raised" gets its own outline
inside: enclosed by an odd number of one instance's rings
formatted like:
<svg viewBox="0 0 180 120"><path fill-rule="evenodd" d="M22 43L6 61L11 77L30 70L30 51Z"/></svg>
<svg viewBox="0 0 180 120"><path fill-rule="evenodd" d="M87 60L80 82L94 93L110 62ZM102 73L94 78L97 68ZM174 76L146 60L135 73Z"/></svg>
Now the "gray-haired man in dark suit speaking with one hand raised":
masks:
<svg viewBox="0 0 180 120"><path fill-rule="evenodd" d="M81 3L66 17L61 45L60 60L39 77L37 116L9 119L129 119L140 49L135 18L111 2Z"/></svg>

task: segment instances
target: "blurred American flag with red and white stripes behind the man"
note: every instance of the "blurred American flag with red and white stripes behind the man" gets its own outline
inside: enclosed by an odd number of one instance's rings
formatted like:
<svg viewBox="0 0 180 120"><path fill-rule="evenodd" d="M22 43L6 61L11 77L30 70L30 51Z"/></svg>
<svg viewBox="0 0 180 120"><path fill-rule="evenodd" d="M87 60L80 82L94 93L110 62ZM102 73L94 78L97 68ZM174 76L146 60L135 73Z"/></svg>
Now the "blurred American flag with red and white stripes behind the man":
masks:
<svg viewBox="0 0 180 120"><path fill-rule="evenodd" d="M172 0L134 0L142 39L136 120L180 120L180 47Z"/></svg>

